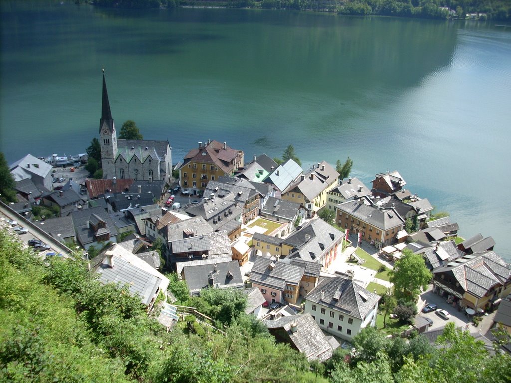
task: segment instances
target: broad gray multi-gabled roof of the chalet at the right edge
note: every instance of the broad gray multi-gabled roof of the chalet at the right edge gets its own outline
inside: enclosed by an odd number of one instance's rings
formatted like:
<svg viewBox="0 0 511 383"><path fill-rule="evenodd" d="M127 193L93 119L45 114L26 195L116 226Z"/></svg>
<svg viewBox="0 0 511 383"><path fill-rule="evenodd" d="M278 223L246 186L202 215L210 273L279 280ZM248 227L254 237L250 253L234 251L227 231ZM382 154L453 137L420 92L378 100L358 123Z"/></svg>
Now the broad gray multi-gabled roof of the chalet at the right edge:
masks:
<svg viewBox="0 0 511 383"><path fill-rule="evenodd" d="M434 274L452 272L461 288L482 298L494 285L511 278L506 262L493 251L464 255L433 270Z"/></svg>

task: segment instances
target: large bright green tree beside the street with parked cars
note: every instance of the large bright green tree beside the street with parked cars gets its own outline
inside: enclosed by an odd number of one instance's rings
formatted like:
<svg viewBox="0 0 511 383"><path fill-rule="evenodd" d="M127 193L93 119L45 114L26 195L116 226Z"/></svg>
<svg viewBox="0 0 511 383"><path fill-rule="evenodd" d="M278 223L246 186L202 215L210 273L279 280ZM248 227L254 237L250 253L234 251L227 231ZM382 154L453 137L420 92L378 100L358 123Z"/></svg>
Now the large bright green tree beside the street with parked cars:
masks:
<svg viewBox="0 0 511 383"><path fill-rule="evenodd" d="M426 289L433 275L426 268L420 254L404 249L402 258L396 261L389 276L390 282L394 284L396 297L415 302L416 297L421 293L421 288Z"/></svg>

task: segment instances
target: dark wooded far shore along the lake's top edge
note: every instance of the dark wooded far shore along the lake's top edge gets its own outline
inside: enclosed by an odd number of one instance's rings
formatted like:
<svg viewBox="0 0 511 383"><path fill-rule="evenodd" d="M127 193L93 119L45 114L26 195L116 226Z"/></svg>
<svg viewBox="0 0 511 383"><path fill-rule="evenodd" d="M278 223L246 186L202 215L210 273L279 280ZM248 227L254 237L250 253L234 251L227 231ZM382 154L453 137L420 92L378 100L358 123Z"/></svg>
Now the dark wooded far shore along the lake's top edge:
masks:
<svg viewBox="0 0 511 383"><path fill-rule="evenodd" d="M380 15L418 18L465 19L479 14L479 20L511 19L511 3L506 0L94 0L108 8L230 7L316 10L343 15ZM449 12L451 10L452 12Z"/></svg>

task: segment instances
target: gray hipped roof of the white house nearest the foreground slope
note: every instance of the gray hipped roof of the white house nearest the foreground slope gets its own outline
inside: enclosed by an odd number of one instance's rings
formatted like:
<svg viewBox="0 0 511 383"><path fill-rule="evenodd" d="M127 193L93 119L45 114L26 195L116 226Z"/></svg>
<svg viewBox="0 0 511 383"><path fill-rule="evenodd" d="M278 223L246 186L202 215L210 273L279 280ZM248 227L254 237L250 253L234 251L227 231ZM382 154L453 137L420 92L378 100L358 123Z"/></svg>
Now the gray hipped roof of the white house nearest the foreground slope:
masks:
<svg viewBox="0 0 511 383"><path fill-rule="evenodd" d="M322 293L324 296L322 297ZM340 297L334 299L334 296ZM323 279L305 299L322 304L354 318L364 319L380 300L380 296L365 290L353 280L334 277Z"/></svg>

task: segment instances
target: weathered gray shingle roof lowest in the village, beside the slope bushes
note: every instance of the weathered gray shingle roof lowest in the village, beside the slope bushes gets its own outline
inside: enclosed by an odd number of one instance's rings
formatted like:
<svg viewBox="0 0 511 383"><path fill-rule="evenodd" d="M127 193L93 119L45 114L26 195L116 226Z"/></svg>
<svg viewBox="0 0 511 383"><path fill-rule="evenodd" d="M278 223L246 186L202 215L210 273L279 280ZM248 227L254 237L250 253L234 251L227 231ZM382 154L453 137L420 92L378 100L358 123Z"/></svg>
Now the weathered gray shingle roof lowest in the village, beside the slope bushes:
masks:
<svg viewBox="0 0 511 383"><path fill-rule="evenodd" d="M310 313L265 320L264 324L277 341L290 343L309 361L324 362L333 354L332 345Z"/></svg>

